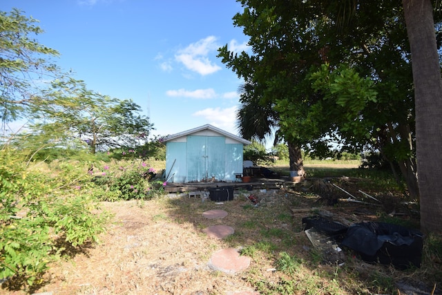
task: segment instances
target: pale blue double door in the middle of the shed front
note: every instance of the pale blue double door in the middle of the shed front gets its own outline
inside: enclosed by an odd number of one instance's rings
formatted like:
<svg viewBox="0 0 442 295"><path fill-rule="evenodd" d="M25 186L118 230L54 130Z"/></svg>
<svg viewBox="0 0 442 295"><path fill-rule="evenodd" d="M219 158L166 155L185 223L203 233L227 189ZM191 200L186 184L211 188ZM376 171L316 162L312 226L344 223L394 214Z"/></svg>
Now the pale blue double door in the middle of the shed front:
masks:
<svg viewBox="0 0 442 295"><path fill-rule="evenodd" d="M187 179L189 181L224 179L224 137L187 137Z"/></svg>

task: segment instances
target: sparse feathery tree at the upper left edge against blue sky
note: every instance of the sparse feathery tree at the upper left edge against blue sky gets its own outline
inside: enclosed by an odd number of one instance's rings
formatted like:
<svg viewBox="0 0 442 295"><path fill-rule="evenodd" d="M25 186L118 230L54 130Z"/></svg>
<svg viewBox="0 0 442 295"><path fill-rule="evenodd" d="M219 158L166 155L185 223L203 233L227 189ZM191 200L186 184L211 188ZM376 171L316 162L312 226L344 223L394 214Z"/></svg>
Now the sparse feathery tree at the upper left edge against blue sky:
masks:
<svg viewBox="0 0 442 295"><path fill-rule="evenodd" d="M0 11L0 119L5 124L26 116L35 95L41 92L43 79L61 75L51 61L59 53L39 44L42 32L38 21L14 9Z"/></svg>

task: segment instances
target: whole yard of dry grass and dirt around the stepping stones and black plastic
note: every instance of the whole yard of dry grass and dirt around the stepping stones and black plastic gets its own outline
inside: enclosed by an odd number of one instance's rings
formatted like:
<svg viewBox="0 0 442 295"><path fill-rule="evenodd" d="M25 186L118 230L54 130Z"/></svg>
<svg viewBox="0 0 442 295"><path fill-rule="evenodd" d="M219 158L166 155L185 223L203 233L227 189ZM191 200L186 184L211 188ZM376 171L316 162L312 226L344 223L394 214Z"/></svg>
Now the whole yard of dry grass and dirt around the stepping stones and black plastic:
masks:
<svg viewBox="0 0 442 295"><path fill-rule="evenodd" d="M222 203L186 196L102 202L102 209L113 213L113 218L101 243L52 265L31 292L430 294L434 284L440 288L440 243L427 242L423 266L404 271L365 263L347 249L333 260L311 245L302 218L320 212L349 224L383 220L416 227L419 223L415 204L405 204L400 193L376 191L378 184L370 180L347 177L350 169L335 166L335 170L340 177L333 176L333 183L358 197L358 190L376 196L380 204L346 202L348 196L323 178L266 192L236 191L234 200ZM246 198L250 194L258 205ZM340 200L329 205L330 196ZM222 209L227 216L205 218L203 213L211 209ZM229 225L235 232L223 239L211 238L204 229L212 225ZM225 248L250 257L249 267L233 275L209 267L211 255ZM0 294L24 294L6 287L3 284Z"/></svg>

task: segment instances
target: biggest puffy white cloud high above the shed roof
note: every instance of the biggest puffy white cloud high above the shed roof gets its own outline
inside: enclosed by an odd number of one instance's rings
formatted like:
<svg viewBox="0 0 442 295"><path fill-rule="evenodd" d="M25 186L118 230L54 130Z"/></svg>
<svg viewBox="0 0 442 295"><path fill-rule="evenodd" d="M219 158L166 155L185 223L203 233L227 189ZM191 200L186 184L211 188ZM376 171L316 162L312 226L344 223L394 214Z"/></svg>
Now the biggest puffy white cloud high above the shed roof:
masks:
<svg viewBox="0 0 442 295"><path fill-rule="evenodd" d="M220 66L214 64L207 57L209 53L217 50L219 47L216 44L216 38L209 36L179 50L175 55L175 59L184 64L189 70L203 76L209 75L221 70Z"/></svg>

